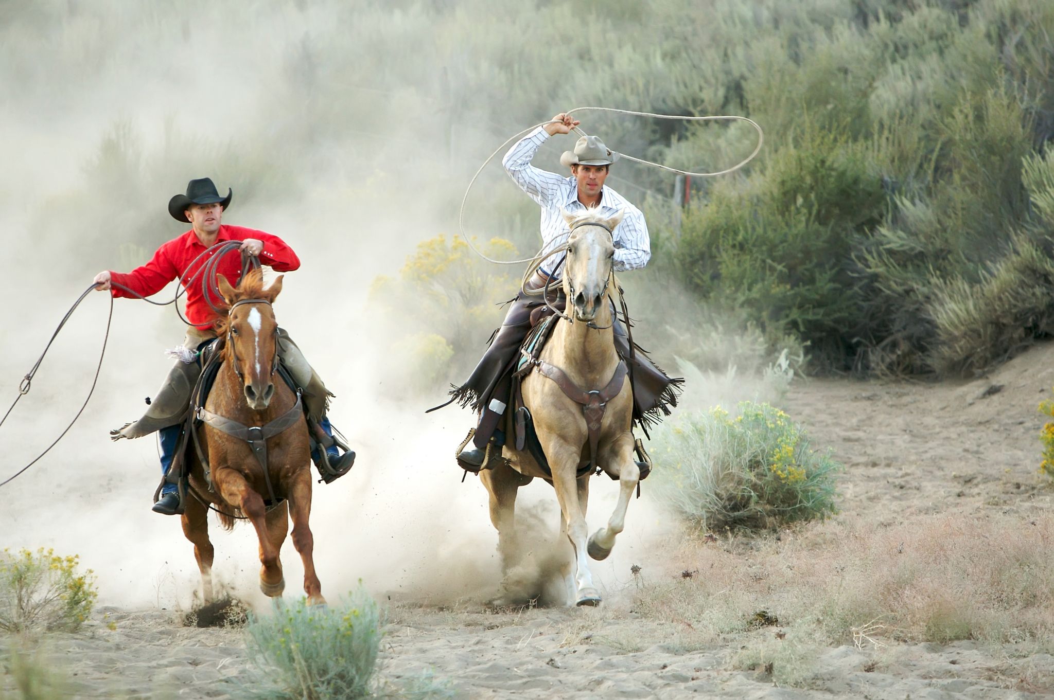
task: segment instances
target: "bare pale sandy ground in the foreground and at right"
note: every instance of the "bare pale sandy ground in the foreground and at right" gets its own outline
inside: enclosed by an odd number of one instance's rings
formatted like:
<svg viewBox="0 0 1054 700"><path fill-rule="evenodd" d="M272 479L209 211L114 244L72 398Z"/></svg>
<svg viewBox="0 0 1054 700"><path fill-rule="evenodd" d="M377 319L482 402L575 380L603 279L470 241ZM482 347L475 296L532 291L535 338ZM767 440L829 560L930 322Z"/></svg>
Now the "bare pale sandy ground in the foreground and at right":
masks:
<svg viewBox="0 0 1054 700"><path fill-rule="evenodd" d="M899 524L998 513L1027 521L1054 505L1054 488L1036 474L1043 422L1036 405L1052 384L1054 345L1045 345L972 381L797 381L785 404L814 444L831 445L846 466L838 518ZM633 527L631 515L627 533ZM633 563L652 577L669 575L659 552L637 547ZM456 566L455 558L448 561ZM389 613L385 677L432 672L465 698L1047 697L1046 688L1015 679L1013 661L998 649L974 642L903 644L898 663L878 667L867 649L829 648L816 662L813 688L778 687L763 672L731 664L753 635L772 631L686 646L677 625L632 612L632 581L628 571L607 577L609 604L600 609L494 611L485 595L440 604L404 594ZM53 637L51 658L76 697L228 697L219 681L248 664L241 634L186 627L178 619L158 607L101 607L84 631ZM1051 657L1032 663L1054 674Z"/></svg>

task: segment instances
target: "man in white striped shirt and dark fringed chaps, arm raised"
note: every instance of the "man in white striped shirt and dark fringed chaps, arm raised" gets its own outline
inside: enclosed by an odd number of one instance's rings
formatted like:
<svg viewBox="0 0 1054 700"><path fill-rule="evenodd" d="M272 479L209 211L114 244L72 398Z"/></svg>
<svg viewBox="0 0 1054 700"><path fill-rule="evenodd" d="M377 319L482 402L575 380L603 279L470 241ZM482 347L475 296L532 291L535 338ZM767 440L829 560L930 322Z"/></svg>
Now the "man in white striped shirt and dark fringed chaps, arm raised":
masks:
<svg viewBox="0 0 1054 700"><path fill-rule="evenodd" d="M614 271L638 269L651 258L647 224L639 208L624 197L604 185L608 171L619 155L612 153L596 136L583 136L573 151L564 152L560 162L569 167L570 177L540 169L530 164L538 149L550 136L569 134L579 122L565 114L540 126L518 141L505 154L502 164L520 187L542 207L541 233L544 241L542 255L546 256L567 245L570 228L564 213L584 214L587 208L599 207L608 217L623 213L622 221L612 232L614 242ZM528 289L540 289L549 282L549 301L561 311L565 299L559 279L563 269L560 256L548 257L538 273L527 281ZM469 471L479 471L483 464L486 446L492 437L500 442L500 424L511 386L511 372L519 359L519 349L530 331L531 312L545 305L541 297L526 296L522 292L513 299L501 328L464 384L451 392L462 405L480 411L480 423L472 442L457 455L458 463ZM619 354L630 365L633 389L633 418L645 425L668 415L669 405L677 404L681 379L670 379L648 360L645 353L633 345L625 326L616 318L614 343Z"/></svg>

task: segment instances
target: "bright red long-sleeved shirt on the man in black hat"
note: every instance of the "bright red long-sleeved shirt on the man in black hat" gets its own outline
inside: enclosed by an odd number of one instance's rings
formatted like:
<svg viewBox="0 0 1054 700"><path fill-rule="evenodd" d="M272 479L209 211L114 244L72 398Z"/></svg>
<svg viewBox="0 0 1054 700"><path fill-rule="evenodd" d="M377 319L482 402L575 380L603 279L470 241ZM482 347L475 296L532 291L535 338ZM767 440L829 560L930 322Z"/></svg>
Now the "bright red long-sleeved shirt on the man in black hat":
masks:
<svg viewBox="0 0 1054 700"><path fill-rule="evenodd" d="M261 264L269 265L279 273L292 272L300 266L300 259L293 253L293 248L286 245L286 242L277 236L266 234L262 231L225 224L219 227L216 242L243 241L247 238L255 238L264 242L264 251L259 255ZM201 259L194 263L193 268L191 268L190 265L194 259L206 249L197 235L191 229L161 245L150 262L142 267L136 267L131 273L111 272L110 277L113 282L123 284L144 297L157 294L164 288L165 284L178 277L180 283L187 287L187 320L199 328L208 328L218 320L218 317L204 299L201 277L195 277L193 281L190 281L194 273L215 255L213 253L209 256L201 256ZM241 255L238 251L227 253L216 266L216 272L226 277L231 284L237 284L241 278ZM189 281L190 285L188 286ZM212 302L217 306L221 305L223 300L214 291L210 292ZM135 296L116 286L111 287L110 293L115 297Z"/></svg>

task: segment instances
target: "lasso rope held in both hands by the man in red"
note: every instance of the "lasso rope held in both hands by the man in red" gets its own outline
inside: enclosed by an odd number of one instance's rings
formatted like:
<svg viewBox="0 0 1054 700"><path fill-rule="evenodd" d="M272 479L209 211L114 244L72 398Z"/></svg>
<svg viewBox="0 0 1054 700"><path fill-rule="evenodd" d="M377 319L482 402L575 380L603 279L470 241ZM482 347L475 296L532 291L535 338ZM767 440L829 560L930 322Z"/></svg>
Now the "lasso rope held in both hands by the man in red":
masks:
<svg viewBox="0 0 1054 700"><path fill-rule="evenodd" d="M219 265L219 260L222 259L222 257L225 255L227 255L228 253L232 252L235 248L240 247L242 243L243 243L243 241L221 241L219 243L216 243L216 244L210 246L208 249L203 251L200 255L198 255L196 258L194 258L194 260L191 261L191 264L188 265L188 267L187 267L188 269L191 269L198 262L198 260L200 260L202 257L215 253L215 255L213 255L209 260L206 261L204 264L202 264L200 267L198 267L197 271L194 272L194 274L192 274L189 278L187 278L186 281L184 281L182 275L179 277L179 281L180 281L179 288L176 289L175 296L171 300L169 300L169 301L154 301L153 299L148 299L147 297L144 297L143 295L139 294L138 292L130 289L128 286L125 286L123 284L120 284L118 282L111 281L110 284L111 284L111 286L115 286L115 287L117 287L119 289L123 289L124 292L131 294L132 296L134 296L134 297L136 297L138 299L142 299L143 301L145 301L148 303L154 304L155 306L168 306L169 304L174 304L176 301L178 301L179 297L181 297L183 294L186 294L187 288L190 286L190 284L198 277L198 275L201 275L201 286L202 286L202 293L203 293L206 302L208 302L209 306L212 307L212 309L215 311L217 314L218 313L222 313L221 309L218 309L212 303L212 301L209 299L209 291L210 291L209 286L210 286L210 283L211 283L212 288L213 289L216 288L215 279L216 279L216 271L218 269L218 265ZM250 268L258 268L259 266L260 266L259 259L256 258L256 256L246 256L246 255L242 255L242 263L241 263L241 274L242 274L242 276L245 276L245 274ZM30 389L31 389L32 384L33 384L33 379L36 376L37 371L40 368L40 364L41 364L41 362L43 362L44 357L47 355L47 351L51 349L52 343L55 342L55 338L58 337L59 332L62 331L63 326L65 326L65 324L66 324L66 321L69 321L70 317L73 316L74 311L77 309L77 307L80 305L80 303L82 301L84 301L84 299L87 297L87 295L91 294L94 289L95 289L95 283L90 284L87 286L87 288L84 289L81 293L81 295L77 298L77 301L75 301L73 303L73 306L70 307L70 311L67 311L65 313L65 315L62 317L62 320L59 321L58 327L55 328L55 332L52 334L51 339L47 341L47 344L44 346L44 352L40 354L40 357L37 358L37 361L33 364L33 367L30 368L30 372L27 372L25 374L25 376L22 377L22 381L19 382L19 385L18 385L18 396L15 397L15 400L12 402L11 406L7 408L7 412L3 415L3 418L0 418L0 426L2 426L3 423L4 423L4 421L7 420L7 417L11 415L11 412L14 411L15 405L18 404L18 402L21 400L21 398L23 396L25 396L26 394L30 393ZM175 309L176 309L176 315L179 316L180 320L182 320L184 323L187 323L187 325L193 325L190 321L188 321L186 318L183 318L183 315L179 312L179 307L178 306L175 306ZM87 407L87 402L92 399L92 395L95 393L96 384L98 384L98 381L99 381L99 373L102 369L102 359L105 357L105 354L106 354L106 344L110 342L110 326L111 326L111 323L113 321L113 318L114 318L114 297L113 297L113 295L110 295L110 313L106 316L106 331L105 331L105 334L103 335L103 338L102 338L102 349L99 352L99 362L98 362L98 364L95 367L95 376L92 379L92 386L89 389L87 396L84 398L84 402L81 404L80 409L77 411L77 414L73 417L73 420L71 420L70 424L65 426L65 429L63 429L62 433L60 433L59 436L57 438L55 438L55 441L52 442L52 444L47 445L46 449L44 449L42 453L40 453L39 455L37 455L37 457L32 462L30 462L28 464L26 464L25 466L23 466L22 468L20 468L18 472L16 472L15 474L13 474L11 477L8 477L7 479L4 479L3 481L0 481L0 487L6 486L8 483L11 483L12 481L14 481L17 477L21 476L26 469L28 469L31 466L33 466L38 461L40 461L40 459L44 455L46 455L48 452L52 451L52 447L54 447L55 445L57 445L59 443L59 440L61 440L63 437L65 437L66 433L70 432L70 428L73 427L73 424L76 423L77 420L80 418L81 414L84 413L84 408Z"/></svg>

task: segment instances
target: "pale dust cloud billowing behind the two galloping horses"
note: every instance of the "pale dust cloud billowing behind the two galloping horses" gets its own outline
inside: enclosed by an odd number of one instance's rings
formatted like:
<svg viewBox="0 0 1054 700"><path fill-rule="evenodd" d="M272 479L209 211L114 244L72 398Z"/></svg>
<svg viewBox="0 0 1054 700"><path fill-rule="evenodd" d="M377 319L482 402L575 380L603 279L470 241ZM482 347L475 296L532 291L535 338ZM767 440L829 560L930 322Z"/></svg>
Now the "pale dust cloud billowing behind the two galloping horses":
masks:
<svg viewBox="0 0 1054 700"><path fill-rule="evenodd" d="M453 461L472 416L456 407L426 416L441 393L392 388L401 368L377 346L387 337L378 328L412 332L411 316L382 313L368 289L376 275L397 272L418 241L456 232L464 186L491 149L566 106L539 98L502 124L474 119L482 109L458 83L471 61L440 40L415 43L429 36L429 18L396 5L55 0L0 7L7 260L0 399L15 398L98 271L142 264L186 229L169 218L168 199L191 178L210 176L221 191L234 189L225 223L276 234L300 256L276 316L337 395L331 417L358 453L350 475L314 491L324 593L333 598L362 580L379 597L479 600L496 592L501 573L485 491L471 476L461 483ZM562 147L547 146L546 158ZM513 185L496 165L484 181L470 215L492 224L488 193L508 195ZM521 218L536 226L533 204L522 200ZM510 294L488 289L494 300ZM0 478L39 454L76 413L109 304L103 294L87 297L0 427ZM495 308L494 325L500 319ZM647 333L645 322L638 333ZM181 337L171 308L115 300L84 415L0 489L0 546L79 554L98 576L101 603L187 606L197 587L178 519L150 511L156 442L108 437L141 414L142 398L168 372L162 351ZM520 507L554 532L550 492L531 484ZM616 493L598 480L591 529L606 520ZM635 501L611 560L594 565L600 584L609 592L631 585L630 564L644 563L663 532L660 513ZM216 578L260 601L252 529L213 526L212 536ZM298 595L301 568L288 540L282 562L287 595Z"/></svg>

